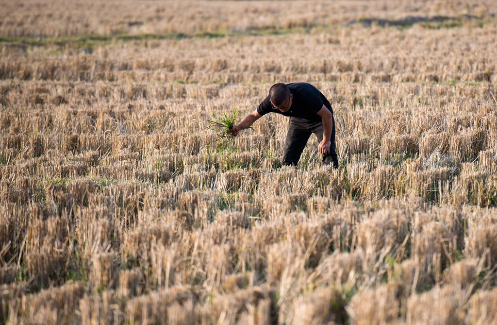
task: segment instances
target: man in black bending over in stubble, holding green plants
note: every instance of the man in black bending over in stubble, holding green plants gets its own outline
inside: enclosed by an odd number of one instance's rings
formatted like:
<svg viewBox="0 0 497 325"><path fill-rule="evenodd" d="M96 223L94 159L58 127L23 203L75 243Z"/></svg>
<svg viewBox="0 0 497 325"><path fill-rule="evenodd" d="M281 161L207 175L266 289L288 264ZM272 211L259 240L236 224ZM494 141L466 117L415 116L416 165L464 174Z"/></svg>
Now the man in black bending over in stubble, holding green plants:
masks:
<svg viewBox="0 0 497 325"><path fill-rule="evenodd" d="M297 166L311 133L319 140L318 151L323 155L323 164L333 163L338 168L335 152L335 121L333 109L326 97L308 83L275 84L259 107L233 126L235 135L250 127L267 113L290 116L286 134L283 165Z"/></svg>

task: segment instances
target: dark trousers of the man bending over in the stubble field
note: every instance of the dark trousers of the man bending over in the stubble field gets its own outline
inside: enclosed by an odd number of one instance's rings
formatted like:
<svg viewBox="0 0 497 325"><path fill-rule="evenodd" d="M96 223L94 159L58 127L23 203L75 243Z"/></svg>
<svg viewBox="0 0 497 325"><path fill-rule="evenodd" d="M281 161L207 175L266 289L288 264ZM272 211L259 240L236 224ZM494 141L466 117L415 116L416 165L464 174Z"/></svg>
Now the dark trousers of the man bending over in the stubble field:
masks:
<svg viewBox="0 0 497 325"><path fill-rule="evenodd" d="M333 168L338 168L338 157L335 151L335 120L331 116L333 130L331 131L330 153L323 156L323 164L333 163ZM305 119L290 118L290 126L286 133L286 147L283 155L283 165L297 166L300 155L309 140L311 134L318 137L318 141L323 140L323 123L313 122Z"/></svg>

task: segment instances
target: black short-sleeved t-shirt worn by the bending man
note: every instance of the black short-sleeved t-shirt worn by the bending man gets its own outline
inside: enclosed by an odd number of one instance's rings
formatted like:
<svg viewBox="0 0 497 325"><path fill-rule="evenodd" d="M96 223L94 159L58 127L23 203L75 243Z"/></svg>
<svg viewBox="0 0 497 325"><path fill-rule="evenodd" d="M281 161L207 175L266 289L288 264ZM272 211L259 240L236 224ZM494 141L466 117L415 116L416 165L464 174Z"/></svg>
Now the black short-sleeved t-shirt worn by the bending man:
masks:
<svg viewBox="0 0 497 325"><path fill-rule="evenodd" d="M291 116L292 119L310 121L321 121L321 116L317 113L323 108L323 105L333 113L330 102L313 85L308 83L292 83L287 84L287 86L290 88L290 93L293 94L292 106L289 110L282 112L279 109L274 109L269 96L267 96L257 108L257 113L264 115L273 112Z"/></svg>

